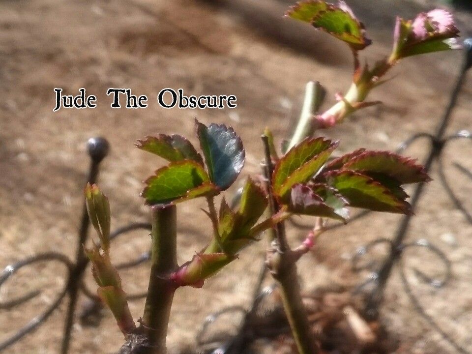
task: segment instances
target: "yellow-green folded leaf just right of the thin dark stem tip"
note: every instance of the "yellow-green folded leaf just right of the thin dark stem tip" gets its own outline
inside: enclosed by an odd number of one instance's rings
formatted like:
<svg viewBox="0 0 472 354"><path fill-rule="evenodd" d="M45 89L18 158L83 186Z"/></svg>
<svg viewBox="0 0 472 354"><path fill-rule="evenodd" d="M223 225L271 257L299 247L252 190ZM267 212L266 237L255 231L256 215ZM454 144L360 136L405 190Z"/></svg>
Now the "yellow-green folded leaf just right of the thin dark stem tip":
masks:
<svg viewBox="0 0 472 354"><path fill-rule="evenodd" d="M278 162L272 175L272 188L276 195L287 199L292 186L313 177L338 143L323 138L306 138L291 148Z"/></svg>

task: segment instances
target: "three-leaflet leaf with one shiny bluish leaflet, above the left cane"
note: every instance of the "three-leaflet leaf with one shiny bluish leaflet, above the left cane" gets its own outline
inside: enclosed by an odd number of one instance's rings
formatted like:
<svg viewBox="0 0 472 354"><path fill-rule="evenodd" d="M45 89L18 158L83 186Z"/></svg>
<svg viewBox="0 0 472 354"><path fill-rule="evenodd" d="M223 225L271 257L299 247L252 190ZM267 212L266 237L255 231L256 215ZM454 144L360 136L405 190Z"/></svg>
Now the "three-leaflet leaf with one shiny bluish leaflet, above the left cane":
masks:
<svg viewBox="0 0 472 354"><path fill-rule="evenodd" d="M170 162L146 180L141 193L146 203L179 203L198 197L214 197L228 189L244 166L241 138L225 125L206 126L195 120L197 137L205 156L180 135L158 134L138 140L136 147Z"/></svg>

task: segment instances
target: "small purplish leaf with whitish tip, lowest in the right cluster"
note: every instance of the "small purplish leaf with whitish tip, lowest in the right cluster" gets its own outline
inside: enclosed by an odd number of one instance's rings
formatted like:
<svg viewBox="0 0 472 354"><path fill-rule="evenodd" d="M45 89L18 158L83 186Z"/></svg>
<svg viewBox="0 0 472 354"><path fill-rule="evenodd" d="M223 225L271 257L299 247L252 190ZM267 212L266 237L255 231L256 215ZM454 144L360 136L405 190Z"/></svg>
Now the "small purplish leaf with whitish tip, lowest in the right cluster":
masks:
<svg viewBox="0 0 472 354"><path fill-rule="evenodd" d="M292 188L288 211L299 215L329 217L346 222L344 212L337 213L333 207L326 205L312 188L304 184L296 184Z"/></svg>

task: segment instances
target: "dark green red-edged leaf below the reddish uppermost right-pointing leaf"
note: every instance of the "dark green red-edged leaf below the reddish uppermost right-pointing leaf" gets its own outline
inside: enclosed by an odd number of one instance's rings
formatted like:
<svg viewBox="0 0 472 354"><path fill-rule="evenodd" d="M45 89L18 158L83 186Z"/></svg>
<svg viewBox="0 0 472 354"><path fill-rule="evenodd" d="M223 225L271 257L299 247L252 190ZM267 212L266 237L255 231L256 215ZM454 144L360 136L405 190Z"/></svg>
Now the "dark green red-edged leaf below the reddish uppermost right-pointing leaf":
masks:
<svg viewBox="0 0 472 354"><path fill-rule="evenodd" d="M330 186L349 201L351 207L392 213L411 213L410 204L399 200L373 178L354 171L330 171L325 174Z"/></svg>

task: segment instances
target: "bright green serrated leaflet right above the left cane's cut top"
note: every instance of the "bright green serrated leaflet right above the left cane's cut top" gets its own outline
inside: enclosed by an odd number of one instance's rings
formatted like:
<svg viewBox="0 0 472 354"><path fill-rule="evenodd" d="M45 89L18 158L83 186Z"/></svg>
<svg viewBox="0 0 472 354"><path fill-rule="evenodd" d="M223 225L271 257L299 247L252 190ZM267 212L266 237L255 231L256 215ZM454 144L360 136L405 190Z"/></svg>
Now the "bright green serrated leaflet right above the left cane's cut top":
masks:
<svg viewBox="0 0 472 354"><path fill-rule="evenodd" d="M202 165L195 161L172 162L169 166L158 169L154 176L145 183L141 196L147 204L166 204L176 199L195 193L194 190L209 183L209 178ZM206 188L206 187L202 187ZM194 197L201 196L195 193Z"/></svg>

